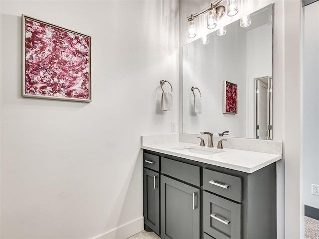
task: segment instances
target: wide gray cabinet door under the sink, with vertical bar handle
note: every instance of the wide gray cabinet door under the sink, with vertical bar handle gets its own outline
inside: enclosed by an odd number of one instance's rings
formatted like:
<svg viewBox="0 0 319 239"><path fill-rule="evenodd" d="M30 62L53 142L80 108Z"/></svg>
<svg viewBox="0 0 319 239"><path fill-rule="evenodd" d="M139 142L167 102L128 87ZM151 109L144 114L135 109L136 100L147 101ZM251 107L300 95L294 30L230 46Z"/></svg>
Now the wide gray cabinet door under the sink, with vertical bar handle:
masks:
<svg viewBox="0 0 319 239"><path fill-rule="evenodd" d="M200 238L200 191L171 178L160 178L162 239Z"/></svg>

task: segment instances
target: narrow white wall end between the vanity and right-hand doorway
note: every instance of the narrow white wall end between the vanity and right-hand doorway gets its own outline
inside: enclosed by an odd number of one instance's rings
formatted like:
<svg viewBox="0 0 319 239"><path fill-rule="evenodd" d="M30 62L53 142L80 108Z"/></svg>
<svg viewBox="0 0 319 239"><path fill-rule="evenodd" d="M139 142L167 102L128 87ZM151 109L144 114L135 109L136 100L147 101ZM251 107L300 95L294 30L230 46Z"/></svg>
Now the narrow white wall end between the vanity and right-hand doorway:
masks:
<svg viewBox="0 0 319 239"><path fill-rule="evenodd" d="M285 1L284 9L285 80L281 93L284 96L285 237L297 239L303 237L301 228L304 228L301 207L301 1Z"/></svg>

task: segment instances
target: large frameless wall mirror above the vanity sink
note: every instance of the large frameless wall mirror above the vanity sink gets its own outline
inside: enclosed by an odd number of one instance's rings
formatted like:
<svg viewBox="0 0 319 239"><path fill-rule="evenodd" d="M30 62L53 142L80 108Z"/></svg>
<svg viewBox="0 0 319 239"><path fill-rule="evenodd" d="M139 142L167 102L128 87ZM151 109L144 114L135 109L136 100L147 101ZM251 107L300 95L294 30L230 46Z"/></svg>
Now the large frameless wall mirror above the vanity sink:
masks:
<svg viewBox="0 0 319 239"><path fill-rule="evenodd" d="M182 131L272 139L273 4L182 47ZM227 133L226 133L227 135Z"/></svg>

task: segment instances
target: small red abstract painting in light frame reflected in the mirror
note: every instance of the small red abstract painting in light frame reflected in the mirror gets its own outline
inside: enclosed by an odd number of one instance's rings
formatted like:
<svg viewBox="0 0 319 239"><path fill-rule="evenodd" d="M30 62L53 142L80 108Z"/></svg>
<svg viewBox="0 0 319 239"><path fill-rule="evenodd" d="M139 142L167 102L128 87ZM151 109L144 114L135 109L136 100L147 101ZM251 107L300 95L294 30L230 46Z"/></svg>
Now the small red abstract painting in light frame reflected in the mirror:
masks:
<svg viewBox="0 0 319 239"><path fill-rule="evenodd" d="M237 85L223 81L223 114L237 114Z"/></svg>

